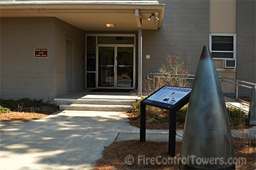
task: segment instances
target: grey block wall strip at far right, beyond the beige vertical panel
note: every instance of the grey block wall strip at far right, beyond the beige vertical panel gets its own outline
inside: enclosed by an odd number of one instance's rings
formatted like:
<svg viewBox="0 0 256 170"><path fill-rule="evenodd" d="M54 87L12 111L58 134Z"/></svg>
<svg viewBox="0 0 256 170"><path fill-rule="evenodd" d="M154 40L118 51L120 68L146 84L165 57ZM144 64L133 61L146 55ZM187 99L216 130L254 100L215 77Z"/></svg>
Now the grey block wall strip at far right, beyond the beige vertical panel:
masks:
<svg viewBox="0 0 256 170"><path fill-rule="evenodd" d="M256 82L256 2L237 1L237 79ZM250 90L239 88L240 93Z"/></svg>

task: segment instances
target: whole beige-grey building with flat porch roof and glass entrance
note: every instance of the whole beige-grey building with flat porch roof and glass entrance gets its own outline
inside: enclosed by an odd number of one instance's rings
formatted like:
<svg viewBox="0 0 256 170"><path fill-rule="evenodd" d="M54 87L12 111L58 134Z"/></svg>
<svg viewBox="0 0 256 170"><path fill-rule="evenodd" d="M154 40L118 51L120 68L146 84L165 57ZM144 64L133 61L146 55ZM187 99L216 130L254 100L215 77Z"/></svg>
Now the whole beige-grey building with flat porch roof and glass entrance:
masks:
<svg viewBox="0 0 256 170"><path fill-rule="evenodd" d="M0 1L0 97L141 91L167 53L195 73L204 45L219 75L255 82L255 9L246 0Z"/></svg>

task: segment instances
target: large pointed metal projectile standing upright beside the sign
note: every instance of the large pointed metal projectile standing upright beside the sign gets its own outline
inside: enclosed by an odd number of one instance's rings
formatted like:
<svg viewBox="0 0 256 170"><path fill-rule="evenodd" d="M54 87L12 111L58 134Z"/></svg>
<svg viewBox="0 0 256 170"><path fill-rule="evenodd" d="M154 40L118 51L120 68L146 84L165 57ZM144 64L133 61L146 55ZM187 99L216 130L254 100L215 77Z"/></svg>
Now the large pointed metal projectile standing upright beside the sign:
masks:
<svg viewBox="0 0 256 170"><path fill-rule="evenodd" d="M236 169L227 108L208 47L203 47L184 126L180 169Z"/></svg>

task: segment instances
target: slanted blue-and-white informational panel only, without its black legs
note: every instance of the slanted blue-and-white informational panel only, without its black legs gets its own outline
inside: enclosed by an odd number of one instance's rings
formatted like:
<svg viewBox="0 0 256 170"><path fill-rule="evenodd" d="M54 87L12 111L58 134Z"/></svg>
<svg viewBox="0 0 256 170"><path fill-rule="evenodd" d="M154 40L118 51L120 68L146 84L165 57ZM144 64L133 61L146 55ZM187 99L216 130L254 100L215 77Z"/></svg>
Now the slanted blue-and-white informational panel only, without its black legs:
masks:
<svg viewBox="0 0 256 170"><path fill-rule="evenodd" d="M176 105L179 101L187 98L191 93L191 88L180 88L172 86L163 86L156 92L152 93L143 100L143 103L162 107L164 109L170 109L172 106Z"/></svg>

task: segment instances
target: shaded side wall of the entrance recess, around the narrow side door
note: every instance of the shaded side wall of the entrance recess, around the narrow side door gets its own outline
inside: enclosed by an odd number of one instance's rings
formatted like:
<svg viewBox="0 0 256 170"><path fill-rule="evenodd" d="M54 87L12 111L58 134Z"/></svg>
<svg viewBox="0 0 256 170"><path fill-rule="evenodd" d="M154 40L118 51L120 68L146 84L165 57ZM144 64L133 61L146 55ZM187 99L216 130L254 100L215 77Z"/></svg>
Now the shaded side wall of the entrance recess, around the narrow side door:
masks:
<svg viewBox="0 0 256 170"><path fill-rule="evenodd" d="M54 96L66 93L66 40L72 42L71 54L71 92L82 90L85 77L85 34L74 26L55 19L55 63L54 63Z"/></svg>

